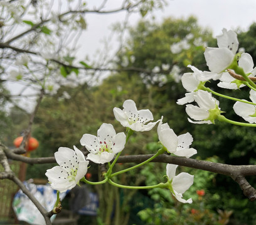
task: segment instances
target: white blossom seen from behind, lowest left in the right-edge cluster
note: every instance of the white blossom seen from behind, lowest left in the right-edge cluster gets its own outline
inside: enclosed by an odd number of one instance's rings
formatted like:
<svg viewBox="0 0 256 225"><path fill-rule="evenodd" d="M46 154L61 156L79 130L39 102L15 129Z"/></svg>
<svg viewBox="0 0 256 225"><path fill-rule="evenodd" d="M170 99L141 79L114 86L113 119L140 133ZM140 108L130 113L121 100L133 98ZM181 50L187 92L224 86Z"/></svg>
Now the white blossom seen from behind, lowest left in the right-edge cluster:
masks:
<svg viewBox="0 0 256 225"><path fill-rule="evenodd" d="M221 113L218 108L219 102L211 96L207 91L198 90L194 96L198 106L191 104L186 105L186 113L195 121L188 119L190 123L212 124L216 117Z"/></svg>

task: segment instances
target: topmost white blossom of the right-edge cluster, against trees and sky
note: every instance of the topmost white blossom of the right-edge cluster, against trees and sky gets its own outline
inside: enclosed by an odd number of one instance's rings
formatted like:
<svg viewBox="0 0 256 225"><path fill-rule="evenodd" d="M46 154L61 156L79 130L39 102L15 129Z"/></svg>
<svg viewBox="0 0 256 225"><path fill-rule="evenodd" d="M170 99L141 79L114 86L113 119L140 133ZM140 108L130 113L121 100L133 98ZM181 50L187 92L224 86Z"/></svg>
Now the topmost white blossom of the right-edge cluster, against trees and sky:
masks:
<svg viewBox="0 0 256 225"><path fill-rule="evenodd" d="M223 29L222 32L216 36L218 47L206 47L204 53L207 66L214 73L221 73L230 66L239 44L234 31Z"/></svg>

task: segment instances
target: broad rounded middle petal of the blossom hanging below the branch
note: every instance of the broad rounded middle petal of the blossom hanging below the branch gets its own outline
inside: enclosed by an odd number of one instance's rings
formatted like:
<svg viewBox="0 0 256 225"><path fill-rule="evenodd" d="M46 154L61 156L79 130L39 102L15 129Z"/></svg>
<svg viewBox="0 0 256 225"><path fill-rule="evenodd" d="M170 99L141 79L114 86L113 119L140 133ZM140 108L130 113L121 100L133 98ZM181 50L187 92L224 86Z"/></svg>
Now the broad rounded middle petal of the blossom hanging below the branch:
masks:
<svg viewBox="0 0 256 225"><path fill-rule="evenodd" d="M180 173L173 179L173 189L183 194L194 183L194 176L188 173Z"/></svg>

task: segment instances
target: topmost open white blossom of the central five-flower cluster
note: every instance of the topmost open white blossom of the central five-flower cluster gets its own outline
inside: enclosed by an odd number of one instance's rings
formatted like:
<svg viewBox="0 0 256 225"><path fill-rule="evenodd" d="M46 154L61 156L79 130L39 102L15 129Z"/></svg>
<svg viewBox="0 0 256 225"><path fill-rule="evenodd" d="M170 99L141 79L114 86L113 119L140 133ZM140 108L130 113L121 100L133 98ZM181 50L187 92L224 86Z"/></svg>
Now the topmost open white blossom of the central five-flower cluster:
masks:
<svg viewBox="0 0 256 225"><path fill-rule="evenodd" d="M133 131L150 131L158 122L149 122L154 119L151 111L149 111L149 109L141 109L138 111L136 104L131 99L125 100L123 107L123 110L116 107L113 109L115 119L117 119L122 126L131 128Z"/></svg>

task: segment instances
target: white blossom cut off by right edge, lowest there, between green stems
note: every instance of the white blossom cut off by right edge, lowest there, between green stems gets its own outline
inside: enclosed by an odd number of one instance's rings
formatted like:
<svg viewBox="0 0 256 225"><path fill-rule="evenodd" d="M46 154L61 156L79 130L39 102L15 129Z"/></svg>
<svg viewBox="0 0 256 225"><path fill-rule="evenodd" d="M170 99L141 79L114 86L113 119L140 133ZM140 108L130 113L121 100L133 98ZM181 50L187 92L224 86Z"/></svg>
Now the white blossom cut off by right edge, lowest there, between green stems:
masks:
<svg viewBox="0 0 256 225"><path fill-rule="evenodd" d="M256 91L250 90L250 99L256 103ZM233 109L238 116L241 116L249 123L256 123L256 106L247 103L237 102L234 104Z"/></svg>

